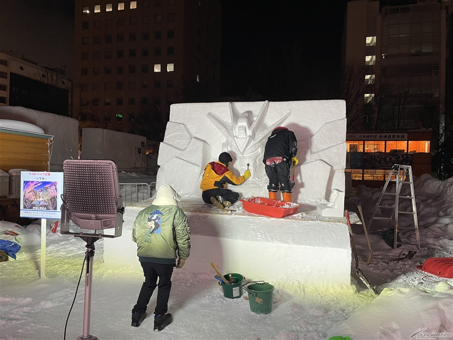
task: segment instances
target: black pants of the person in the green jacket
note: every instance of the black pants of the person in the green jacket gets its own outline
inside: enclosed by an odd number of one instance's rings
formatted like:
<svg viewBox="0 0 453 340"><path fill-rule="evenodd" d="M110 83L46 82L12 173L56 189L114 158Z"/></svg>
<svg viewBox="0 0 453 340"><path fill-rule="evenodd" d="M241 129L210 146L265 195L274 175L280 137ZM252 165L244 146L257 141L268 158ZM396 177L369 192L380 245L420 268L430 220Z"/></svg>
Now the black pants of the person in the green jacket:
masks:
<svg viewBox="0 0 453 340"><path fill-rule="evenodd" d="M132 313L143 313L149 303L149 299L153 295L156 287L158 289L158 297L154 314L165 314L168 311L168 299L170 298L170 290L172 289L172 274L174 264L161 264L153 262L140 262L143 268L145 281L141 285L140 294L138 294L137 304L132 309ZM159 284L157 279L159 278Z"/></svg>

